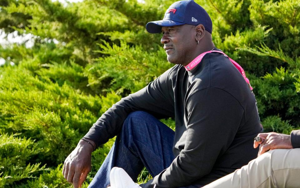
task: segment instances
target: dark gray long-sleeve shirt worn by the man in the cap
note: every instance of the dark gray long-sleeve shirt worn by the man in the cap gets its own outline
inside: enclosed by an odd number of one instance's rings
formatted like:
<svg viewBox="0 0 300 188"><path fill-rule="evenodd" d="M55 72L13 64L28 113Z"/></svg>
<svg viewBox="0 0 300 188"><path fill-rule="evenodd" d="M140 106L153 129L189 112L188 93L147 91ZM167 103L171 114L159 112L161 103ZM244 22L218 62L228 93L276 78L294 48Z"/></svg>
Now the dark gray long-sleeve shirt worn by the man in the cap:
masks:
<svg viewBox="0 0 300 188"><path fill-rule="evenodd" d="M227 57L204 56L191 71L175 65L105 112L84 138L99 146L117 135L132 111L176 122L172 164L144 187L206 185L257 156L260 123L247 83ZM153 161L155 162L155 161Z"/></svg>

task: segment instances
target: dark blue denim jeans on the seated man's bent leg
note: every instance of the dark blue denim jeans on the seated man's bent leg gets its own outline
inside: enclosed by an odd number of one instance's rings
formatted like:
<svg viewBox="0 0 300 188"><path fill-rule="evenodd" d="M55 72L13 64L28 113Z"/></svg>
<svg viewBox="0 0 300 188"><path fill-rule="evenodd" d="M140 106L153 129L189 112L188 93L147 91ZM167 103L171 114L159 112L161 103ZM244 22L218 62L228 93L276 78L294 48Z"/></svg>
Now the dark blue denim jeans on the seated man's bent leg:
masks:
<svg viewBox="0 0 300 188"><path fill-rule="evenodd" d="M110 170L123 168L135 181L145 166L152 177L168 168L173 155L174 131L143 111L132 112L123 123L113 147L104 160L89 188L103 188L110 184ZM187 188L201 187L190 185Z"/></svg>

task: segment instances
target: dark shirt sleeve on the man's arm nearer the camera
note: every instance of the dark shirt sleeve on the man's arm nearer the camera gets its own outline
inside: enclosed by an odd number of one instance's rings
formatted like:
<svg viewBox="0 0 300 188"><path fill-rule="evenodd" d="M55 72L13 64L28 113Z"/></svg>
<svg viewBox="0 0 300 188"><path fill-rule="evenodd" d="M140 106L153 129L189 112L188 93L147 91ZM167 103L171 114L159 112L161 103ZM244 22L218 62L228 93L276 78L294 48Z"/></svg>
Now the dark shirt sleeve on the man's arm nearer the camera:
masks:
<svg viewBox="0 0 300 188"><path fill-rule="evenodd" d="M143 188L175 188L207 175L218 156L232 143L244 118L240 103L226 91L207 88L187 100L188 120L185 147L172 164Z"/></svg>

